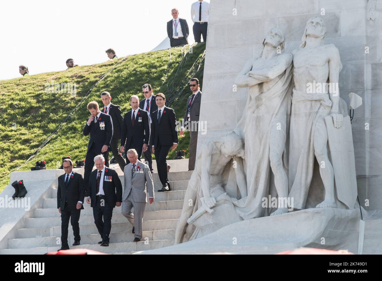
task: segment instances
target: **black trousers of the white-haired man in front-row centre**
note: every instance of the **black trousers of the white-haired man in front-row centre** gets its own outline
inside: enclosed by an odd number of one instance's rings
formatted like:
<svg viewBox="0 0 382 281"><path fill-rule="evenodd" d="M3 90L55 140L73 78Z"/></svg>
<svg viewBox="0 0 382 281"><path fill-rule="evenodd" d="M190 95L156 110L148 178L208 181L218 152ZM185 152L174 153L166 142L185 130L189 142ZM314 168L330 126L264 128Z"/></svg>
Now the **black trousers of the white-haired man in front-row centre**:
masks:
<svg viewBox="0 0 382 281"><path fill-rule="evenodd" d="M95 198L97 201L93 207L94 223L95 226L97 226L100 236L102 237L102 241L109 242L110 231L112 230L113 208L110 208L107 203L105 203L105 196L96 196ZM102 220L102 217L104 220Z"/></svg>

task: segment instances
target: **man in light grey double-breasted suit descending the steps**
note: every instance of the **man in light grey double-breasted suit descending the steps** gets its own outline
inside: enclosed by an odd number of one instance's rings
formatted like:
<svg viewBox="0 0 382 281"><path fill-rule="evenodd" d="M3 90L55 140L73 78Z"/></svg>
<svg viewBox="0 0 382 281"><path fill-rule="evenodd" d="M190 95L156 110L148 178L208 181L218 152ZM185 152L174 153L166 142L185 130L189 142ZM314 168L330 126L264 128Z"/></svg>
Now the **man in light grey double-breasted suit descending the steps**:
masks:
<svg viewBox="0 0 382 281"><path fill-rule="evenodd" d="M149 192L149 203L154 202L154 183L149 166L138 160L138 153L135 149L129 149L126 156L130 163L123 170L125 192L122 197L122 214L133 225L133 233L135 233L133 242L139 242L142 239L146 194ZM133 207L134 214L131 213Z"/></svg>

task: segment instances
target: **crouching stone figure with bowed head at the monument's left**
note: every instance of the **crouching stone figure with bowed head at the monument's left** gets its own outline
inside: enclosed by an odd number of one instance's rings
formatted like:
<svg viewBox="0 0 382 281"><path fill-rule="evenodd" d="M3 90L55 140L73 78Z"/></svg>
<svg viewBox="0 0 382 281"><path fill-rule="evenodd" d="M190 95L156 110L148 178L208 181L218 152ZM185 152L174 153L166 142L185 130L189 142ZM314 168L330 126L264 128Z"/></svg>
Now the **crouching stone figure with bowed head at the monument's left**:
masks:
<svg viewBox="0 0 382 281"><path fill-rule="evenodd" d="M187 220L193 214L199 212L202 215L202 210L204 212L210 210L215 205L219 205L220 200L230 201L230 197L225 194L223 171L232 158L240 161L239 157L243 157L243 154L243 140L234 132L225 137L206 140L198 155L195 170L187 187L183 210L176 225L175 244L182 242L188 226ZM242 167L236 168L235 172L238 187L242 188L240 189L241 196L246 196ZM194 220L196 219L197 217ZM190 240L194 239L197 234L198 230L194 231Z"/></svg>

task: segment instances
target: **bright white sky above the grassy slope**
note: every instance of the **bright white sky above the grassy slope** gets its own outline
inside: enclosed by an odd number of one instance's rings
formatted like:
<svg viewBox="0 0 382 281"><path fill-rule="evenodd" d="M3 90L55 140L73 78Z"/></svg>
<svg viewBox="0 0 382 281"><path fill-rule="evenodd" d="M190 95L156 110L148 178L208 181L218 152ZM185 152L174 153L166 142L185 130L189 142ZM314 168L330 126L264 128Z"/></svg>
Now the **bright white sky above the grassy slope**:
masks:
<svg viewBox="0 0 382 281"><path fill-rule="evenodd" d="M1 1L0 80L65 70L107 61L105 50L118 57L149 52L167 37L171 9L178 8L192 32L191 4L196 0L60 0ZM209 1L207 1L209 2Z"/></svg>

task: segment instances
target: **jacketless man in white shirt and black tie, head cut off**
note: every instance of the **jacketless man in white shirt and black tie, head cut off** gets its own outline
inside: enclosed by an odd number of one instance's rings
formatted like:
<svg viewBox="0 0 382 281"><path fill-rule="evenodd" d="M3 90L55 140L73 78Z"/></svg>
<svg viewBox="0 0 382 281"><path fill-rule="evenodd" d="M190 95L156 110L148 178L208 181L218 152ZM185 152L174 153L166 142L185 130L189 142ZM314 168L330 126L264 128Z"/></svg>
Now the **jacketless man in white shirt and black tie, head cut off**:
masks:
<svg viewBox="0 0 382 281"><path fill-rule="evenodd" d="M193 32L195 42L203 42L207 40L207 24L208 24L208 7L209 3L203 0L196 1L191 5L191 18L194 21Z"/></svg>

